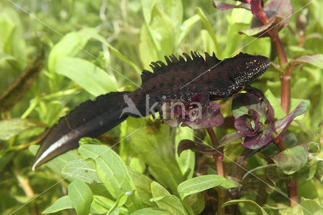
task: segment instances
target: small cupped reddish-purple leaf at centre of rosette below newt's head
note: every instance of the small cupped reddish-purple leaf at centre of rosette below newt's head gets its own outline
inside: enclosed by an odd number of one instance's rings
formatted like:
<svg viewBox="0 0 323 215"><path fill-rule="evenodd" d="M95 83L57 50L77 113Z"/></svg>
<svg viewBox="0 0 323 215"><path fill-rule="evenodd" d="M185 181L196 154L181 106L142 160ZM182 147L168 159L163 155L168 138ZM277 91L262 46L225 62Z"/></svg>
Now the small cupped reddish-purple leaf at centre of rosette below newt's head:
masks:
<svg viewBox="0 0 323 215"><path fill-rule="evenodd" d="M255 136L260 126L260 116L254 110L249 110L250 114L244 114L238 117L234 123L234 127L248 137ZM251 115L252 114L252 115Z"/></svg>

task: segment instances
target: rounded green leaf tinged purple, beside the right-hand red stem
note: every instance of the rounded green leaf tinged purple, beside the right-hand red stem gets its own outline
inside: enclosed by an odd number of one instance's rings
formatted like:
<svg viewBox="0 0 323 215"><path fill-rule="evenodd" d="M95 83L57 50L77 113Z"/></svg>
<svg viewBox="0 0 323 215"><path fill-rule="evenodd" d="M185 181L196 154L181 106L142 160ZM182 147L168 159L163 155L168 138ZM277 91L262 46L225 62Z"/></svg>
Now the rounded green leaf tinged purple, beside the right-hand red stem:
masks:
<svg viewBox="0 0 323 215"><path fill-rule="evenodd" d="M272 157L277 167L287 175L302 169L307 163L307 158L308 149L305 144L288 148Z"/></svg>

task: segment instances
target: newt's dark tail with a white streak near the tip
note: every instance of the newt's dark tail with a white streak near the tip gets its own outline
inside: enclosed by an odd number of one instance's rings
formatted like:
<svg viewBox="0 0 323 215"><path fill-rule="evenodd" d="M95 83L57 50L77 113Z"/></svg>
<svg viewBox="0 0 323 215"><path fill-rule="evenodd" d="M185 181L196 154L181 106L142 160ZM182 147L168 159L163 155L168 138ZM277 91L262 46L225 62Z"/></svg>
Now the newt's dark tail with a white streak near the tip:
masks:
<svg viewBox="0 0 323 215"><path fill-rule="evenodd" d="M97 137L126 120L129 113L123 109L127 107L125 102L127 94L131 92L100 95L94 101L81 103L68 116L62 117L43 139L32 164L32 170L78 147L80 138Z"/></svg>

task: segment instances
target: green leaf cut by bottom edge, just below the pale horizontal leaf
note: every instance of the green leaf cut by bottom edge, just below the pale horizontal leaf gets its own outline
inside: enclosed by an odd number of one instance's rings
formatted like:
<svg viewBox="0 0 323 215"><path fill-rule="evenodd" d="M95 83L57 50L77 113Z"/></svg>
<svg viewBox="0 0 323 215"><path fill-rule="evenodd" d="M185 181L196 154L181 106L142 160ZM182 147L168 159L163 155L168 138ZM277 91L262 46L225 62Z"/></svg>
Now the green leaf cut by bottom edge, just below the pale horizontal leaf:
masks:
<svg viewBox="0 0 323 215"><path fill-rule="evenodd" d="M174 195L159 196L150 199L150 201L163 203L166 207L162 207L162 209L168 210L172 214L189 214L182 201Z"/></svg>

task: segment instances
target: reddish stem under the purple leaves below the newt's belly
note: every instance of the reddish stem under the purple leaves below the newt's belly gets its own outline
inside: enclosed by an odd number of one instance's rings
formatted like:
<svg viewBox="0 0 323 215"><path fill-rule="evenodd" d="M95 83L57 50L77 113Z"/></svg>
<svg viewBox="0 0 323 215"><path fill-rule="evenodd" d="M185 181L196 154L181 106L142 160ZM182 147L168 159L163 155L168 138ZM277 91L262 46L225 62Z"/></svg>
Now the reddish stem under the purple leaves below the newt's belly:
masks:
<svg viewBox="0 0 323 215"><path fill-rule="evenodd" d="M206 129L208 135L211 138L213 148L217 148L219 145L218 138L216 133L214 133L213 128L207 128ZM223 147L217 149L219 152L216 154L213 154L213 158L216 161L217 166L217 174L219 176L224 177L224 163L223 163ZM222 205L226 202L226 190L221 189L220 187L217 187L218 191L218 214L226 214L225 208L222 207Z"/></svg>

